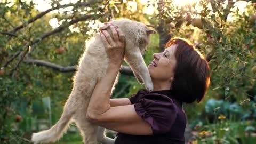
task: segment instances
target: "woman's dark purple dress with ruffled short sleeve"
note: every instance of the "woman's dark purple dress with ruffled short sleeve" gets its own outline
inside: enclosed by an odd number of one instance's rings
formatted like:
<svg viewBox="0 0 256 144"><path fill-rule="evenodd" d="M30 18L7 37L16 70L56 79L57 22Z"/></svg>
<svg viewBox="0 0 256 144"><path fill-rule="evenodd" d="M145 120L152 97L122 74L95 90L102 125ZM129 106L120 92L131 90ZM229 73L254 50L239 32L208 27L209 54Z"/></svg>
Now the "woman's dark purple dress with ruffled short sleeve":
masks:
<svg viewBox="0 0 256 144"><path fill-rule="evenodd" d="M184 144L187 118L182 102L172 90L140 90L129 98L135 111L153 130L153 135L118 133L115 144Z"/></svg>

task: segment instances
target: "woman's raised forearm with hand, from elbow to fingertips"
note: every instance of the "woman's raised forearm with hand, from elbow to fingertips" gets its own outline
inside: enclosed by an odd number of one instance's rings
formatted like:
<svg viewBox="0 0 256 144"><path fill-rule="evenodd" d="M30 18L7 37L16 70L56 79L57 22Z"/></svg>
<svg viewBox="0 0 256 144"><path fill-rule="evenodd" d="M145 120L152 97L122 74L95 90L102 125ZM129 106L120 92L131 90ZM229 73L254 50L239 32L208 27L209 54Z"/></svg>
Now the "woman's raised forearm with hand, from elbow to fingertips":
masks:
<svg viewBox="0 0 256 144"><path fill-rule="evenodd" d="M94 87L87 109L87 115L89 117L103 114L110 108L111 89L114 85L124 57L124 35L119 33L118 37L115 28L110 26L110 29L113 34L113 39L108 34L107 30L102 30L102 33L100 33L102 42L104 43L109 57L109 66L106 76L102 77Z"/></svg>

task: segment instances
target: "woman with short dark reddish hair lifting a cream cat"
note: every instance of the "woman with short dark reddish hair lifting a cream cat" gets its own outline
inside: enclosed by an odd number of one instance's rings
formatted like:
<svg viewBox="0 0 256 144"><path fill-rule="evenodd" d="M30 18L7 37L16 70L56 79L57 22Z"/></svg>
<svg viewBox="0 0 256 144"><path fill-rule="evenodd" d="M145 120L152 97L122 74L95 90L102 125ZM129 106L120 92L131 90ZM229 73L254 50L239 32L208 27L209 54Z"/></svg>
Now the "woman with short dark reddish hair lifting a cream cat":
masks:
<svg viewBox="0 0 256 144"><path fill-rule="evenodd" d="M119 132L115 143L184 143L186 114L182 103L200 102L210 83L209 66L190 42L173 38L164 52L153 54L148 66L154 91L140 90L131 98L110 99L124 57L123 35L110 27L102 30L110 64L107 74L95 86L87 119Z"/></svg>

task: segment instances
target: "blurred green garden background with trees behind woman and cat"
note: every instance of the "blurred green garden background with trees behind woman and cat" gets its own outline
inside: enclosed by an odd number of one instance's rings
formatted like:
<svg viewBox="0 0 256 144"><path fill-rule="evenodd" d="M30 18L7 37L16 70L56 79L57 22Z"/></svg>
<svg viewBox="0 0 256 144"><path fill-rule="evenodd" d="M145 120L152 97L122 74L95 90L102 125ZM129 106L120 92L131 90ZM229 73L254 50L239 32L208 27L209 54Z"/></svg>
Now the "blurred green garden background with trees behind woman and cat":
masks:
<svg viewBox="0 0 256 144"><path fill-rule="evenodd" d="M86 39L120 18L157 31L147 65L171 37L189 39L209 61L204 101L184 105L186 143L256 143L255 10L255 0L1 0L0 143L30 143L58 121ZM143 88L123 66L112 98ZM82 143L74 124L57 143Z"/></svg>

